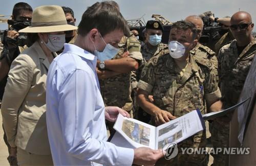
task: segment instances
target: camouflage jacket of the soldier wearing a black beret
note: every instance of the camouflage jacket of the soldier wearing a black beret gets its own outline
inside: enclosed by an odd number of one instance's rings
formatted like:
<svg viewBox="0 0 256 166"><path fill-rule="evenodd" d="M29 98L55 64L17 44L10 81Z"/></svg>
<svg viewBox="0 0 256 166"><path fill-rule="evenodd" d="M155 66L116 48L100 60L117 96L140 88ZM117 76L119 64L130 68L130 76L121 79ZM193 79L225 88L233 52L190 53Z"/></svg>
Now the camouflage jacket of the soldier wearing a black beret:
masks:
<svg viewBox="0 0 256 166"><path fill-rule="evenodd" d="M140 79L141 71L145 64L155 56L160 56L163 54L169 53L168 45L160 43L157 47L150 49L148 46L144 43L141 45L141 54L142 54L142 63L139 66L139 69L137 71L132 71L131 75L131 81L132 81L132 89L137 87L138 81Z"/></svg>

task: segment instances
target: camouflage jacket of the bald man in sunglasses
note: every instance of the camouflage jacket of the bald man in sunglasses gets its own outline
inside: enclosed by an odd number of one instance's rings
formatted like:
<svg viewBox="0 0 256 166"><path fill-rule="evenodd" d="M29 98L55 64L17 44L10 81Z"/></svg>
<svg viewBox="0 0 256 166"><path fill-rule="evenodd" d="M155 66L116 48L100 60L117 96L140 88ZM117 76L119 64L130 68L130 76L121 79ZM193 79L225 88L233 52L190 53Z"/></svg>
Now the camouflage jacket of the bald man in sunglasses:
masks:
<svg viewBox="0 0 256 166"><path fill-rule="evenodd" d="M241 54L238 54L236 40L221 48L218 55L219 75L225 108L238 102L255 52L256 39L250 42Z"/></svg>

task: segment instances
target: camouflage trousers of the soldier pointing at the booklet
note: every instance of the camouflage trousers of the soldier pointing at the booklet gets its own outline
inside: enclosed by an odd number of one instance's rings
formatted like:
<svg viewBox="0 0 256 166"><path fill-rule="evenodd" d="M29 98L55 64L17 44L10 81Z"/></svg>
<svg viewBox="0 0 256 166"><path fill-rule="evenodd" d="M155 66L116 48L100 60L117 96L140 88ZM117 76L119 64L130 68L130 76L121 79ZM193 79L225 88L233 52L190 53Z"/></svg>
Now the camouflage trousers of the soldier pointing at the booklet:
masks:
<svg viewBox="0 0 256 166"><path fill-rule="evenodd" d="M207 154L182 154L181 148L205 148L206 147L206 131L200 131L194 136L178 144L178 155L170 160L164 157L159 159L156 165L180 165L180 166L207 166L209 155Z"/></svg>

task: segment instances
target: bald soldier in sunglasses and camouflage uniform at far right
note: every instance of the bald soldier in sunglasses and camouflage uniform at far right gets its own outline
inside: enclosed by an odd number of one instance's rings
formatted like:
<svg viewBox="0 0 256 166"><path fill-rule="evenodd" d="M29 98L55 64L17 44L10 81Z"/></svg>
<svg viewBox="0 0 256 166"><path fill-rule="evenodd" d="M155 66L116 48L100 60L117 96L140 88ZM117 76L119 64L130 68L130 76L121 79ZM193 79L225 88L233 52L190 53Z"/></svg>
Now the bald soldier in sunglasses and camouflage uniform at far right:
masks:
<svg viewBox="0 0 256 166"><path fill-rule="evenodd" d="M256 40L251 35L254 24L247 12L237 12L231 17L230 29L235 40L224 45L218 55L220 90L223 108L237 104L243 85L256 52ZM214 121L212 144L214 147L229 146L230 116ZM215 155L214 165L228 165L227 155Z"/></svg>

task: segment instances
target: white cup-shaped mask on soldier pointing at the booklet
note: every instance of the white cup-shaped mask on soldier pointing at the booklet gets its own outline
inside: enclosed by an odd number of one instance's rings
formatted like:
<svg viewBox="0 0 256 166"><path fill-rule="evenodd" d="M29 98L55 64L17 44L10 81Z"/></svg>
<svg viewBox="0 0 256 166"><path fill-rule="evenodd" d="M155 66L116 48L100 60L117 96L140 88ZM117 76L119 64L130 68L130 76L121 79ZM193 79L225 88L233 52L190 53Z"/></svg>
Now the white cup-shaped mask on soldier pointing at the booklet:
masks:
<svg viewBox="0 0 256 166"><path fill-rule="evenodd" d="M184 56L185 47L183 44L179 43L178 41L170 41L168 44L169 54L174 59L178 59Z"/></svg>

